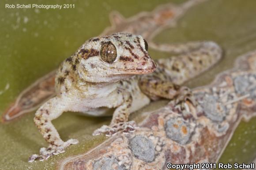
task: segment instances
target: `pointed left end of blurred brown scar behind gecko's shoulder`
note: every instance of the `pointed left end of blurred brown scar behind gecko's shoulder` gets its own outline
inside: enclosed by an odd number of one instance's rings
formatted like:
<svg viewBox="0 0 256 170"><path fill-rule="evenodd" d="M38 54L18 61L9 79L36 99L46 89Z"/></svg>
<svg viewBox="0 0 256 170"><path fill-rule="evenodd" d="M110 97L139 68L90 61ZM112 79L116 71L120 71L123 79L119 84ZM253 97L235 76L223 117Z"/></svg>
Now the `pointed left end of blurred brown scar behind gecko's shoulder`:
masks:
<svg viewBox="0 0 256 170"><path fill-rule="evenodd" d="M11 122L26 113L34 111L43 102L55 96L55 75L56 70L53 70L23 90L16 101L3 113L1 122Z"/></svg>

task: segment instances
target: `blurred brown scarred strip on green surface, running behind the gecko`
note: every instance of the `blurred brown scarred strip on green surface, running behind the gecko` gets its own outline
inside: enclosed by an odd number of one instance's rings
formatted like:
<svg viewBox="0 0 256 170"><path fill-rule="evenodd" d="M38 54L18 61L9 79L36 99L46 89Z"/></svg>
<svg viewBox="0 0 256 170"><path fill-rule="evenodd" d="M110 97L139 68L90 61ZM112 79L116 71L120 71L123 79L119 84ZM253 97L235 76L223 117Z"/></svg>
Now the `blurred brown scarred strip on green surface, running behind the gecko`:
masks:
<svg viewBox="0 0 256 170"><path fill-rule="evenodd" d="M110 35L117 32L138 34L147 40L148 46L155 51L182 53L185 52L184 48L189 47L189 45L184 45L183 43L156 44L153 39L162 30L175 27L177 21L179 21L190 8L205 1L206 0L188 0L181 4L161 4L155 7L153 11L142 11L129 18L124 18L118 11L112 11L109 14L111 26L106 27L100 35ZM198 44L199 42L189 42L189 44L192 43ZM200 46L203 46L203 44L200 44ZM187 51L189 50L190 49L187 49ZM11 122L26 113L35 111L46 100L56 96L54 88L55 76L56 70L53 70L24 89L15 102L11 103L2 114L2 122ZM182 81L188 80L188 78Z"/></svg>

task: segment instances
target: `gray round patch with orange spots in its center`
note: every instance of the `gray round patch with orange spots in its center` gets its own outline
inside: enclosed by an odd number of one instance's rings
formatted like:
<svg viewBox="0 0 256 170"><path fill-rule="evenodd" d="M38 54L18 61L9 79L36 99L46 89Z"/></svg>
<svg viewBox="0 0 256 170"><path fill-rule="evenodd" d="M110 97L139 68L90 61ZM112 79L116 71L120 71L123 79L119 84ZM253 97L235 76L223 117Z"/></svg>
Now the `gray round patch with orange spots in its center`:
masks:
<svg viewBox="0 0 256 170"><path fill-rule="evenodd" d="M187 144L191 126L182 118L170 118L165 124L166 136L179 144Z"/></svg>

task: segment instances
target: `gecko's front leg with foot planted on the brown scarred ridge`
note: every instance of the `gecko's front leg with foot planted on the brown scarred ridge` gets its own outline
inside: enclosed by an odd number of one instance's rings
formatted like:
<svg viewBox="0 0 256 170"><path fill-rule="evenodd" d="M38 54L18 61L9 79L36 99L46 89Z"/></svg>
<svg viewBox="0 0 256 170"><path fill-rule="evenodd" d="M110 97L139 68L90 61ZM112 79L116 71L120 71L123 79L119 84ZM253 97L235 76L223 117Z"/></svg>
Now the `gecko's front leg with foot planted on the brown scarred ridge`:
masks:
<svg viewBox="0 0 256 170"><path fill-rule="evenodd" d="M114 111L112 121L109 126L103 125L101 128L94 131L93 135L105 134L106 136L112 136L118 131L123 131L124 133L133 132L136 127L134 121L128 122L130 115L129 108L132 106L132 96L130 94L124 93L123 103L117 107Z"/></svg>

